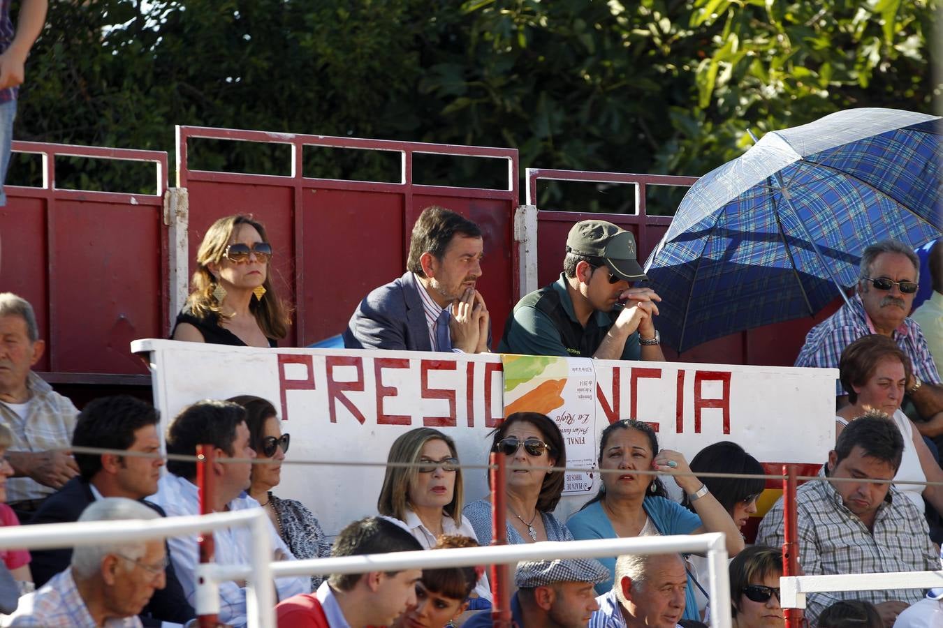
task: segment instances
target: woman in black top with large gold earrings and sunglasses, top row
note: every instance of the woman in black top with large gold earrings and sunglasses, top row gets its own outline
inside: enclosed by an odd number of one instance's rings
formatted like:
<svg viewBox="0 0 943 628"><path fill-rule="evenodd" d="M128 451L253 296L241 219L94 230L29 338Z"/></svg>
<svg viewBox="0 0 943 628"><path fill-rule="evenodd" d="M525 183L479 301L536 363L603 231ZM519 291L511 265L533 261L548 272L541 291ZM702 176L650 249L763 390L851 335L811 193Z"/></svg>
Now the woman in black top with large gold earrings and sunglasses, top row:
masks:
<svg viewBox="0 0 943 628"><path fill-rule="evenodd" d="M174 340L235 346L277 346L289 316L273 290L272 245L252 217L214 222L196 253L187 305L177 314Z"/></svg>

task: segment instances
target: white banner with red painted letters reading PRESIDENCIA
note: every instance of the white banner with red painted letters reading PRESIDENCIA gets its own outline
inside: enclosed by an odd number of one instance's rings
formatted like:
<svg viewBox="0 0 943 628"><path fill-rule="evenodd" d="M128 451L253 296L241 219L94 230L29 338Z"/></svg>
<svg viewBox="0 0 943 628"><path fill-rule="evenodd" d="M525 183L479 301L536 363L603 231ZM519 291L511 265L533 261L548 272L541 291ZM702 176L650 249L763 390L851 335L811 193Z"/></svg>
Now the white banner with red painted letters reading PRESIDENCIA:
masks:
<svg viewBox="0 0 943 628"><path fill-rule="evenodd" d="M505 411L499 355L151 339L131 348L150 355L162 428L194 401L258 395L273 403L282 431L291 434L288 462L385 462L397 436L424 426L454 438L462 462L486 464L488 432ZM651 423L662 447L688 459L707 444L729 440L762 461L820 464L835 442L835 369L566 362L578 402L552 415L569 427L571 465L594 461L599 433L610 420L629 417ZM345 523L375 513L383 475L382 467L286 464L274 492L303 502L334 535ZM488 492L484 470L464 476L466 501ZM591 484L579 474L569 479L568 488L578 494L557 507L563 519L596 490L598 474Z"/></svg>

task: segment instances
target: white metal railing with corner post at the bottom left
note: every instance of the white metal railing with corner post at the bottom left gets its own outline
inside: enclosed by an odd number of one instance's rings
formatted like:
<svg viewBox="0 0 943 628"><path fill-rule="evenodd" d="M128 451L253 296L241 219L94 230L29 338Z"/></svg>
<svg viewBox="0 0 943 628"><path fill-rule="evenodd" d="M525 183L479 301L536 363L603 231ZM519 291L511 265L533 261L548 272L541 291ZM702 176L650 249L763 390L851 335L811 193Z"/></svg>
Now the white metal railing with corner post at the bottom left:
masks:
<svg viewBox="0 0 943 628"><path fill-rule="evenodd" d="M253 545L250 548L250 565L245 574L246 580L246 616L250 626L273 628L274 591L272 588L272 542L269 537L269 518L262 508L219 512L210 515L190 515L187 517L167 517L157 520L122 520L106 522L78 523L42 523L37 525L16 525L0 527L0 549L20 548L50 549L97 545L101 543L133 542L141 540L165 539L198 534L211 530L234 526L252 528ZM197 582L200 575L213 567L214 563L197 568ZM196 612L198 615L215 615L220 610L219 580L205 578L198 585Z"/></svg>

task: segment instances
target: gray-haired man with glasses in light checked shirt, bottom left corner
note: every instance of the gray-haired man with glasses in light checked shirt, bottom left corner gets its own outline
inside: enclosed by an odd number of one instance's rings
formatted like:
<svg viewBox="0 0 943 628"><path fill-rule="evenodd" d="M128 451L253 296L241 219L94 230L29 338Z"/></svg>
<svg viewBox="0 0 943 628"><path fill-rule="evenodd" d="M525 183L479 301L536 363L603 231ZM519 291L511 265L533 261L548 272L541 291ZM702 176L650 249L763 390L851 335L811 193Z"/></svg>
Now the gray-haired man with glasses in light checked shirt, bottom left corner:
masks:
<svg viewBox="0 0 943 628"><path fill-rule="evenodd" d="M160 515L140 502L107 497L85 509L80 522L152 520ZM164 588L167 554L162 539L84 545L72 564L20 600L11 626L141 626L136 617Z"/></svg>

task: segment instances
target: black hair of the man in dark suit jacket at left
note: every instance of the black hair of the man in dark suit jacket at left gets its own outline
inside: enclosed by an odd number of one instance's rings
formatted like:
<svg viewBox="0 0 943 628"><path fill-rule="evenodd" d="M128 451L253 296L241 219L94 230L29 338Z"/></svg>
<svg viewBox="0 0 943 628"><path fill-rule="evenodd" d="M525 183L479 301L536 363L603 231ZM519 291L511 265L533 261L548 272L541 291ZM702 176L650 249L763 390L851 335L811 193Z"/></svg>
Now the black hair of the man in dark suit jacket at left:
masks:
<svg viewBox="0 0 943 628"><path fill-rule="evenodd" d="M78 413L72 444L76 447L128 449L134 444L134 433L141 427L157 425L154 406L130 395L113 395L91 400ZM102 470L101 454L74 454L82 479L91 478Z"/></svg>

